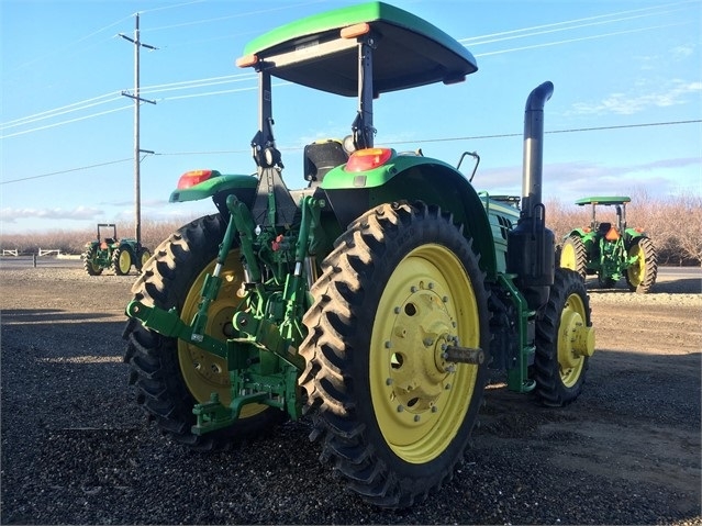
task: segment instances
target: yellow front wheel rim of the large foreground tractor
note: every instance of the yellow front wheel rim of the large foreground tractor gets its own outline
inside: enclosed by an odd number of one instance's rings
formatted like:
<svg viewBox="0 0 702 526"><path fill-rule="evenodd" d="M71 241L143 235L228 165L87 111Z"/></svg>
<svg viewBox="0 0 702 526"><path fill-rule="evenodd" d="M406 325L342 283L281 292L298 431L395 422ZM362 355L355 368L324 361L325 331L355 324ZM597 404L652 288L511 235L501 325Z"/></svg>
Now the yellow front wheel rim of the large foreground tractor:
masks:
<svg viewBox="0 0 702 526"><path fill-rule="evenodd" d="M570 294L560 314L558 329L558 366L560 380L567 388L573 387L582 373L588 352L588 337L591 332L586 326L586 306L578 294ZM581 342L584 343L581 345Z"/></svg>

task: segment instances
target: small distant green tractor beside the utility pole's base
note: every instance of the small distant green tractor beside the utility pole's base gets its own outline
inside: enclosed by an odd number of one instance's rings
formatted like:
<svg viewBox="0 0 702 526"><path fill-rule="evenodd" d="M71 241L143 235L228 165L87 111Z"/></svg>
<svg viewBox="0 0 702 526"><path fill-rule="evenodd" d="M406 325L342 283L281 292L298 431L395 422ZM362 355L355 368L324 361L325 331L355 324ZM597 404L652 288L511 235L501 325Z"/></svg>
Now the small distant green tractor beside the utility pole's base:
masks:
<svg viewBox="0 0 702 526"><path fill-rule="evenodd" d="M109 233L105 236L103 231ZM112 268L118 276L130 273L132 265L141 271L151 257L148 248L143 247L136 239L116 236L116 225L99 223L97 239L86 243L82 253L83 268L90 276L99 276L107 268Z"/></svg>

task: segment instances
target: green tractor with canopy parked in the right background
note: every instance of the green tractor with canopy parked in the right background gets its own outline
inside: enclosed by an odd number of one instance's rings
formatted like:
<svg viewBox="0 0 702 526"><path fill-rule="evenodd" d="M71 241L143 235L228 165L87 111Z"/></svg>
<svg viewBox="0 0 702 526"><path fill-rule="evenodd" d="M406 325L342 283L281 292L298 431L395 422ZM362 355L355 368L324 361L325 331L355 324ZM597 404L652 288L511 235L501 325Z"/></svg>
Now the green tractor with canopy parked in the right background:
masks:
<svg viewBox="0 0 702 526"><path fill-rule="evenodd" d="M576 201L592 206L590 226L568 233L560 247L560 267L572 269L583 279L597 275L600 287L611 289L623 278L632 292L646 293L656 282L656 247L642 228L626 225L627 197L593 197ZM614 206L616 224L599 222L598 206Z"/></svg>

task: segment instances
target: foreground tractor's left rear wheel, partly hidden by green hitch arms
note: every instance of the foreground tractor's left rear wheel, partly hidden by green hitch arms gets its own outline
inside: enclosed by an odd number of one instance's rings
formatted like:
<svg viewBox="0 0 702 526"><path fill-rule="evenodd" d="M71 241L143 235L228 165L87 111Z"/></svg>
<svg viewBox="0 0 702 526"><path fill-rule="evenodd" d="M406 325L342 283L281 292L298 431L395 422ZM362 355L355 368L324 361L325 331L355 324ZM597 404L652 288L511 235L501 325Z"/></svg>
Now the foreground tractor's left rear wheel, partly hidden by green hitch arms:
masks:
<svg viewBox="0 0 702 526"><path fill-rule="evenodd" d="M163 242L132 287L134 299L164 310L176 309L186 323L198 311L205 276L216 264L226 224L208 215L181 227ZM210 304L205 333L225 340L232 336L232 316L241 304L236 291L244 276L239 250L234 248L222 267L222 286ZM131 365L130 383L136 401L175 440L194 449L220 449L232 440L252 437L285 418L286 413L261 404L247 404L233 426L194 435L192 407L212 392L229 405L232 400L226 361L177 338L146 329L130 320L124 331L124 360Z"/></svg>

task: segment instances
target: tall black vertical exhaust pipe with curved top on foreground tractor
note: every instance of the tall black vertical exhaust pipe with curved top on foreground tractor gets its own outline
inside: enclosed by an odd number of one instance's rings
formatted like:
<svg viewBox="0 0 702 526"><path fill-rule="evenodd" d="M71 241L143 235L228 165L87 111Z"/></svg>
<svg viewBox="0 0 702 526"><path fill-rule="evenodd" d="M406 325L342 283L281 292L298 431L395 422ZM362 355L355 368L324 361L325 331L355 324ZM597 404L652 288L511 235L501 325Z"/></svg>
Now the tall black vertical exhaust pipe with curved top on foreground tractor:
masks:
<svg viewBox="0 0 702 526"><path fill-rule="evenodd" d="M553 92L554 85L547 81L526 99L522 212L516 227L508 236L506 270L516 275L514 281L533 310L548 302L555 272L555 238L546 228L546 209L542 202L544 107Z"/></svg>

